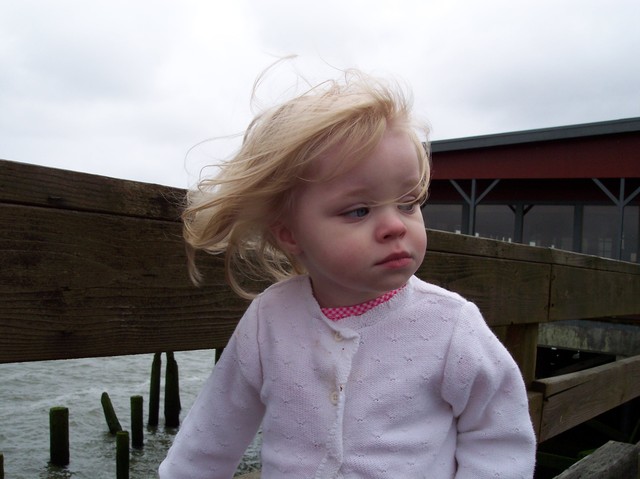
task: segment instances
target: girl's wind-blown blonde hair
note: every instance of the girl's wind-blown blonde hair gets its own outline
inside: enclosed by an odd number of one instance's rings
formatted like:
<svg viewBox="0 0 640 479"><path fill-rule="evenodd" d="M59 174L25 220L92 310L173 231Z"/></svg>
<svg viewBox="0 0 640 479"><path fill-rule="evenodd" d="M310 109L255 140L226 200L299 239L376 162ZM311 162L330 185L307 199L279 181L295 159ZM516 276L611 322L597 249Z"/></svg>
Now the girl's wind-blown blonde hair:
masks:
<svg viewBox="0 0 640 479"><path fill-rule="evenodd" d="M400 88L349 70L256 116L235 156L187 194L182 218L191 279L201 279L197 250L225 253L227 282L244 298L255 293L243 279L303 274L304 267L278 247L272 226L287 215L297 186L329 179L310 178L311 165L339 158L333 175L341 174L375 149L387 127L406 130L414 142L426 198L428 147L418 138L410 108Z"/></svg>

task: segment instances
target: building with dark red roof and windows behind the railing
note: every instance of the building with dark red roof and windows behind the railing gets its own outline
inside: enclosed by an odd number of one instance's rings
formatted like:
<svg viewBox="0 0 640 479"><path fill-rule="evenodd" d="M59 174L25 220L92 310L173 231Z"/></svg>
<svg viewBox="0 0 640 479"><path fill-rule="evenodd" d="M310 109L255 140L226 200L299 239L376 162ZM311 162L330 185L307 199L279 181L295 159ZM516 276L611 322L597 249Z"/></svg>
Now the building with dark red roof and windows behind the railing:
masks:
<svg viewBox="0 0 640 479"><path fill-rule="evenodd" d="M638 262L640 118L434 141L428 228Z"/></svg>

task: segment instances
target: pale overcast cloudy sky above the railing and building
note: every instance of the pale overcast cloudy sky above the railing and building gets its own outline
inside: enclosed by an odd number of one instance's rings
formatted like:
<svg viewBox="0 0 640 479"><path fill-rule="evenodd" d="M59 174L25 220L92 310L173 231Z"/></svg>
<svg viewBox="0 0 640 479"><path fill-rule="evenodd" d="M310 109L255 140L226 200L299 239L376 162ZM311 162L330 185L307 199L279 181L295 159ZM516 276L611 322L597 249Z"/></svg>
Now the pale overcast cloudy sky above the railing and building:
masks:
<svg viewBox="0 0 640 479"><path fill-rule="evenodd" d="M187 187L258 92L360 68L431 139L640 116L638 0L0 0L0 159ZM191 150L190 150L191 149ZM0 172L1 174L1 172Z"/></svg>

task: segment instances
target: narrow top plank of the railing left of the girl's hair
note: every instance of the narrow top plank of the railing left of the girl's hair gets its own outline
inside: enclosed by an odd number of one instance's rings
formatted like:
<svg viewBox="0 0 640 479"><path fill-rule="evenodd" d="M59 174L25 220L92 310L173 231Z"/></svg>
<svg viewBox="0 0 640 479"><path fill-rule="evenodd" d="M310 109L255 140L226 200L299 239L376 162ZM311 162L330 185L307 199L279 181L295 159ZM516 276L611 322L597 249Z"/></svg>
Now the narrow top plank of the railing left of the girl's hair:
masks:
<svg viewBox="0 0 640 479"><path fill-rule="evenodd" d="M179 221L184 190L0 160L0 203Z"/></svg>

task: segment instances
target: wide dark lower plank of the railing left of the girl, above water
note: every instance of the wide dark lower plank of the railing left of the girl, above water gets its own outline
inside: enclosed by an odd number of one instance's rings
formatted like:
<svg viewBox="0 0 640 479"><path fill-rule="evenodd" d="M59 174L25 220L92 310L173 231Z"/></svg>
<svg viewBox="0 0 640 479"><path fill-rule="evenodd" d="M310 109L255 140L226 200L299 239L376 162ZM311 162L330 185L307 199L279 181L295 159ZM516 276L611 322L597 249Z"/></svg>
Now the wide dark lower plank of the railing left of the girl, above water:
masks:
<svg viewBox="0 0 640 479"><path fill-rule="evenodd" d="M218 258L189 282L179 223L0 205L0 224L0 362L222 347L246 308Z"/></svg>

